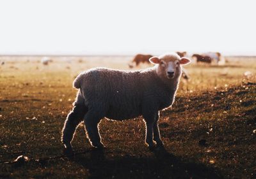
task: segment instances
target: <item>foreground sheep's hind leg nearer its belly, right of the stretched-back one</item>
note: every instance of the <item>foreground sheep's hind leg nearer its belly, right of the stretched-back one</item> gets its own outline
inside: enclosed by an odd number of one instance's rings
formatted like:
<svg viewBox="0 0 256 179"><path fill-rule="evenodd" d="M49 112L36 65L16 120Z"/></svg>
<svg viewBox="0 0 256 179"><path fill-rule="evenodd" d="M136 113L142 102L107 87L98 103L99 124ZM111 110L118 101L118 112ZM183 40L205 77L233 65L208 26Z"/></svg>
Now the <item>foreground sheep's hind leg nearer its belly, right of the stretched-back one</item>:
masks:
<svg viewBox="0 0 256 179"><path fill-rule="evenodd" d="M99 117L95 115L93 112L86 113L84 117L84 125L86 129L86 135L91 145L96 148L105 148L103 143L101 142L100 134L99 134L99 122L103 117Z"/></svg>

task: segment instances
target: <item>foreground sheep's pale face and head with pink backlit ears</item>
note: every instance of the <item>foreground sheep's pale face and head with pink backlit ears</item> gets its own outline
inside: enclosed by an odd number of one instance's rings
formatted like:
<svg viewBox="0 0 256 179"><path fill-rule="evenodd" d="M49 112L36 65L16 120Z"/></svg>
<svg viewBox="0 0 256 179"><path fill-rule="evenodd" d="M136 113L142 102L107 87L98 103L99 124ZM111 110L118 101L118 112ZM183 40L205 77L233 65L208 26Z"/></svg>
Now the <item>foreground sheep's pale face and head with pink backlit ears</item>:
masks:
<svg viewBox="0 0 256 179"><path fill-rule="evenodd" d="M191 62L186 57L180 58L176 53L165 54L159 57L151 57L149 61L157 65L157 74L159 76L166 76L169 79L179 77L182 73L182 65Z"/></svg>

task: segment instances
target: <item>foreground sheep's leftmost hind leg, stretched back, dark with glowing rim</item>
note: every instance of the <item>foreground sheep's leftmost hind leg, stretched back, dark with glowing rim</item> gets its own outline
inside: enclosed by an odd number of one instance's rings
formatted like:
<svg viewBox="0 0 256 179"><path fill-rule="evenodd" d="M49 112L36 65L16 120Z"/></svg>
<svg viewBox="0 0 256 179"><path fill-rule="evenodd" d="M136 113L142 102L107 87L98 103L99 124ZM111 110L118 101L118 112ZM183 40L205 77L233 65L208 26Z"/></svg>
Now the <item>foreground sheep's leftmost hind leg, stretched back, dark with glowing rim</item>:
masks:
<svg viewBox="0 0 256 179"><path fill-rule="evenodd" d="M87 107L82 104L74 104L74 108L67 115L67 120L65 120L64 127L62 129L61 141L64 144L64 153L72 154L71 141L74 138L77 126L83 121L83 117L87 112Z"/></svg>

